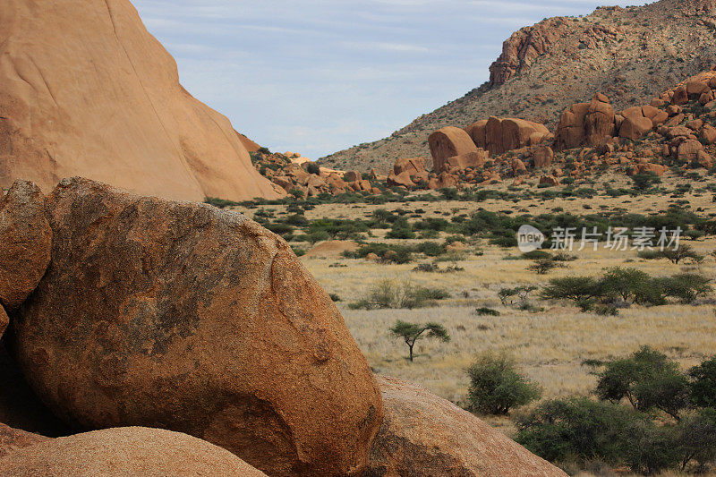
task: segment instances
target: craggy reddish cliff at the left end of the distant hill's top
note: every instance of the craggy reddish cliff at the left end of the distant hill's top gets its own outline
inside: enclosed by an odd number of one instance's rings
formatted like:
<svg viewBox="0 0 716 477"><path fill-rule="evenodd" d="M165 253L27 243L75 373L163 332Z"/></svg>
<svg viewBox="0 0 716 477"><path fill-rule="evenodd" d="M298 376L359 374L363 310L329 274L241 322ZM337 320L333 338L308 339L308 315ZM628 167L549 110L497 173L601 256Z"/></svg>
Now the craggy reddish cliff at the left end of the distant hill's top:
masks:
<svg viewBox="0 0 716 477"><path fill-rule="evenodd" d="M502 54L490 65L490 85L499 86L520 72L530 69L534 61L550 51L567 28L562 18L551 18L512 34L502 44Z"/></svg>

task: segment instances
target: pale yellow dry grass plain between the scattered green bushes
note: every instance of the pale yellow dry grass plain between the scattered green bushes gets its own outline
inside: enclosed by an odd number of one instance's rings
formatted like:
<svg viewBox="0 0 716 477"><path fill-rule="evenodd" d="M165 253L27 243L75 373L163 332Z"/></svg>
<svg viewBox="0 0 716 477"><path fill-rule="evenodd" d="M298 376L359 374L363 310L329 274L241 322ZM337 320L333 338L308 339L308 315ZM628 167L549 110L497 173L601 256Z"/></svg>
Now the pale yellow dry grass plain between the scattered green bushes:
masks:
<svg viewBox="0 0 716 477"><path fill-rule="evenodd" d="M709 252L714 241L695 243ZM598 275L602 268L629 266L653 276L682 271L666 260L639 260L634 251L581 251L579 260L567 268L538 276L527 270L528 260L503 260L510 251L484 249L482 257L461 263L464 272L431 274L411 272L414 264L379 265L367 260L303 260L311 273L330 293L344 302L339 308L356 342L375 371L418 382L454 402L465 398L468 380L465 369L476 353L507 350L515 355L524 372L544 388L545 397L586 395L594 385L585 359L605 359L632 353L641 345L652 345L677 359L685 368L716 353L716 314L713 306L671 304L644 308L635 306L618 317L583 313L567 303L539 302L545 311L531 313L501 306L501 286L541 285L549 277L570 274ZM516 251L511 251L516 253ZM345 262L347 268L331 268ZM701 273L713 277L716 263L707 260ZM446 288L453 298L438 308L422 310L353 311L345 305L365 294L369 285L385 278L411 279L415 285ZM499 317L473 314L479 306L500 311ZM405 345L388 333L396 321L439 321L453 340L448 344L423 340L416 345L415 362L405 359Z"/></svg>

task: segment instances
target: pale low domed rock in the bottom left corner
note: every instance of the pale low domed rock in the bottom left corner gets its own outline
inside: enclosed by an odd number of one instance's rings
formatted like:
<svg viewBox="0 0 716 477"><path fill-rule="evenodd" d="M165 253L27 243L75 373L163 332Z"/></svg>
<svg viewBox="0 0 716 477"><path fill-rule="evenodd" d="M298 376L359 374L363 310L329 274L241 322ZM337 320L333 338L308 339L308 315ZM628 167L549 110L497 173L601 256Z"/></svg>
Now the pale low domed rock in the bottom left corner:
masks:
<svg viewBox="0 0 716 477"><path fill-rule="evenodd" d="M265 477L237 456L169 430L119 428L51 439L0 458L7 477Z"/></svg>

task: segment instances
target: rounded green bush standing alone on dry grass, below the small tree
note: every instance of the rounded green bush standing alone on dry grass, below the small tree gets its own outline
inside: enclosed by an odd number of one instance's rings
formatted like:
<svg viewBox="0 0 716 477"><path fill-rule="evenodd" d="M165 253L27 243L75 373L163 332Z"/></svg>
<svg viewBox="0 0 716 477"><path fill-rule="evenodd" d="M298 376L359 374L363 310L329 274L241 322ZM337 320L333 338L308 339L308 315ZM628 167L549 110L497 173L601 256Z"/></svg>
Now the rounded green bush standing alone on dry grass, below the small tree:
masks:
<svg viewBox="0 0 716 477"><path fill-rule="evenodd" d="M473 413L507 415L511 409L541 396L541 388L520 375L514 359L506 354L482 354L467 374L467 403Z"/></svg>

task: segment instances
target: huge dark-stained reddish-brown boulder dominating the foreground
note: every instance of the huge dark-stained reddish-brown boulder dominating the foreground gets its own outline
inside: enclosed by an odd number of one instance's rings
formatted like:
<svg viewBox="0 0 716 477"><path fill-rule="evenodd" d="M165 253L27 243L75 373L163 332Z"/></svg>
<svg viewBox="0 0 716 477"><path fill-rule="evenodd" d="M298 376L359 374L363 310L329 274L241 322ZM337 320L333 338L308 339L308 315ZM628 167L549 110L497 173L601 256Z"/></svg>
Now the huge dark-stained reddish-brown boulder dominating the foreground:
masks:
<svg viewBox="0 0 716 477"><path fill-rule="evenodd" d="M47 213L52 261L10 338L58 416L185 432L271 475L362 471L383 415L375 378L282 239L79 178Z"/></svg>

